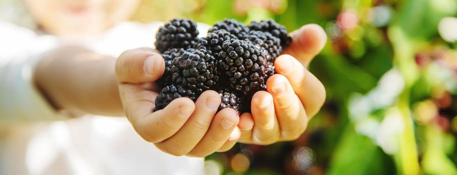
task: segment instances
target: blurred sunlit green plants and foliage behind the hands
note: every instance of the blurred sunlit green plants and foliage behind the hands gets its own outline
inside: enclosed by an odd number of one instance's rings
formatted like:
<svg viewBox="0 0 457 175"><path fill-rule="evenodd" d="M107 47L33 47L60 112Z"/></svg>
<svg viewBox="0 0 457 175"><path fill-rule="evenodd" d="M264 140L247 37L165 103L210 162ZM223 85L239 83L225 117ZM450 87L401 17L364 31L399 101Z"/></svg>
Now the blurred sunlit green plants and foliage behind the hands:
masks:
<svg viewBox="0 0 457 175"><path fill-rule="evenodd" d="M327 100L306 132L214 153L209 174L457 174L456 13L457 0L143 0L131 20L273 18L326 30L309 68Z"/></svg>

